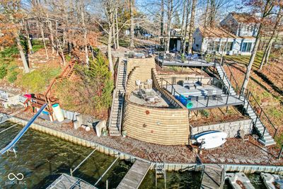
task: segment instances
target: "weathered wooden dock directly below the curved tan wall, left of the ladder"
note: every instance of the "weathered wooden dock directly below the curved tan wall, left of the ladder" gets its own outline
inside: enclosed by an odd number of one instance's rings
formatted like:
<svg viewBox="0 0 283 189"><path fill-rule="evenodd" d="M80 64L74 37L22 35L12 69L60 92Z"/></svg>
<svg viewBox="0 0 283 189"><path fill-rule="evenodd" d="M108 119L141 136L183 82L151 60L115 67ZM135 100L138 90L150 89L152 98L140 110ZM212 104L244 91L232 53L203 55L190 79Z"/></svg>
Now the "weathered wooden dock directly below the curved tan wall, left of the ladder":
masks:
<svg viewBox="0 0 283 189"><path fill-rule="evenodd" d="M139 188L144 176L149 171L150 164L144 161L136 160L134 165L129 169L123 180L117 186L117 189L134 189Z"/></svg>

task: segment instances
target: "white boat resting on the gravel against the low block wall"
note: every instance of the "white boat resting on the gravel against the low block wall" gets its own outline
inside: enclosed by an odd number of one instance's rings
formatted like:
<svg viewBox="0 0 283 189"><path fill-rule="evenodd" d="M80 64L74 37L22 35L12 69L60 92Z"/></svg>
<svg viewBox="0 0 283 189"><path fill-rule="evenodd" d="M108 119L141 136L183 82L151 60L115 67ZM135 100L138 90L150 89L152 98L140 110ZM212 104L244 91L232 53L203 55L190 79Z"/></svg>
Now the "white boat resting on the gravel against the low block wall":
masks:
<svg viewBox="0 0 283 189"><path fill-rule="evenodd" d="M221 131L207 131L197 134L195 139L202 143L202 149L213 149L220 147L226 142L227 133Z"/></svg>

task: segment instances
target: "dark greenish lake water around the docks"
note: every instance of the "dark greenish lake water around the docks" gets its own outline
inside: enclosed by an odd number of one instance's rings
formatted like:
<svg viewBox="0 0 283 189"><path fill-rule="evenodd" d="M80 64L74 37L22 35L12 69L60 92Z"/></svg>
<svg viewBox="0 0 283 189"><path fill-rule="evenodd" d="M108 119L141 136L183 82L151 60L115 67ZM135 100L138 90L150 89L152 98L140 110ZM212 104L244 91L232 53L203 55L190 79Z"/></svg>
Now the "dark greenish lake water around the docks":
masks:
<svg viewBox="0 0 283 189"><path fill-rule="evenodd" d="M13 122L1 124L0 131L13 124ZM21 128L16 126L1 133L0 148L11 142ZM29 129L16 144L16 151L17 157L13 152L0 156L0 188L46 188L62 173L69 174L70 168L79 165L93 149ZM113 161L115 161L114 157L96 151L73 173L73 176L94 184ZM109 188L117 187L131 166L132 164L127 161L117 161L97 187L105 188L106 180ZM22 173L24 176L22 183L11 183L8 180L9 173L15 175ZM140 188L155 188L155 185L155 172L149 171ZM163 179L158 179L157 186L163 188ZM168 172L166 186L167 188L200 188L200 173Z"/></svg>

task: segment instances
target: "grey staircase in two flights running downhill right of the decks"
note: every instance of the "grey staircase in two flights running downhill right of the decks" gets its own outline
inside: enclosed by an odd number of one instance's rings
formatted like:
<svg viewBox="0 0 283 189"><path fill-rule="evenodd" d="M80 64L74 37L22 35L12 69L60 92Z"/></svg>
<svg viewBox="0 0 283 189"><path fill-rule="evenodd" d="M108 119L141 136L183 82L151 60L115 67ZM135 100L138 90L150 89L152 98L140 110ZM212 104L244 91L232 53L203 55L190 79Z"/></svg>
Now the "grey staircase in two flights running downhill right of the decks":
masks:
<svg viewBox="0 0 283 189"><path fill-rule="evenodd" d="M231 82L229 81L228 76L224 71L224 67L222 67L221 64L216 64L215 67L220 78L226 85L226 88L229 88L229 86L231 86ZM236 95L236 92L233 90L233 87L229 88L229 93L231 95ZM250 102L248 101L246 96L240 96L240 99L244 101L243 107L246 110L246 114L253 120L253 126L255 127L255 130L257 130L257 132L260 134L259 142L265 146L275 144L275 140L267 131L267 128L265 127L265 125L263 125L258 115L255 114L255 110L253 110L253 107L250 105Z"/></svg>

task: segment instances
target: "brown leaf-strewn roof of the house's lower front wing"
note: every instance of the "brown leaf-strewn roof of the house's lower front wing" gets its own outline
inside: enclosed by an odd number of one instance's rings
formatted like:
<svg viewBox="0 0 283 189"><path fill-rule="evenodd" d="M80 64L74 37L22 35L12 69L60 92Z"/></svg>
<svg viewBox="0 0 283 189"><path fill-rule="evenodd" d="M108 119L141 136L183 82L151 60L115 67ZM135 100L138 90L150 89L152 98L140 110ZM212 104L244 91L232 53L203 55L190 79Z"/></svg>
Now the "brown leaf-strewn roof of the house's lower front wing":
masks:
<svg viewBox="0 0 283 189"><path fill-rule="evenodd" d="M238 36L234 35L233 33L225 30L221 27L200 27L200 33L202 33L202 36L205 38L239 38Z"/></svg>

